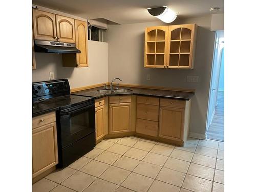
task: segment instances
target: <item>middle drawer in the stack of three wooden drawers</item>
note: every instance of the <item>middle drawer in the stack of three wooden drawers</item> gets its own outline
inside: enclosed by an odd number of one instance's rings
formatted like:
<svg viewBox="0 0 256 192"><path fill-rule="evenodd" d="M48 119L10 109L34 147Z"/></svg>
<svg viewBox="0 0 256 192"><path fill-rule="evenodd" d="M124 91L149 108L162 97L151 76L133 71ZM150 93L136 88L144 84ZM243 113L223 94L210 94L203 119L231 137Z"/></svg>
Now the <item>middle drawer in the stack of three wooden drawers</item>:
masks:
<svg viewBox="0 0 256 192"><path fill-rule="evenodd" d="M158 106L137 103L137 118L158 121Z"/></svg>

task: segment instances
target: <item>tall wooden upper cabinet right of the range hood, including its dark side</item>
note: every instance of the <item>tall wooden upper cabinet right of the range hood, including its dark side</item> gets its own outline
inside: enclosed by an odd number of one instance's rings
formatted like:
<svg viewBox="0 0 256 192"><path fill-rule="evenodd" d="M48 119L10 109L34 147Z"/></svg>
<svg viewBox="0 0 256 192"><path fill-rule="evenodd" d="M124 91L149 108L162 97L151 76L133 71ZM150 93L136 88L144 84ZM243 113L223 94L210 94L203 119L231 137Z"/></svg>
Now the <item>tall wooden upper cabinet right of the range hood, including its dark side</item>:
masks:
<svg viewBox="0 0 256 192"><path fill-rule="evenodd" d="M88 67L87 22L75 20L76 48L81 51L77 54L62 54L62 65L64 67Z"/></svg>

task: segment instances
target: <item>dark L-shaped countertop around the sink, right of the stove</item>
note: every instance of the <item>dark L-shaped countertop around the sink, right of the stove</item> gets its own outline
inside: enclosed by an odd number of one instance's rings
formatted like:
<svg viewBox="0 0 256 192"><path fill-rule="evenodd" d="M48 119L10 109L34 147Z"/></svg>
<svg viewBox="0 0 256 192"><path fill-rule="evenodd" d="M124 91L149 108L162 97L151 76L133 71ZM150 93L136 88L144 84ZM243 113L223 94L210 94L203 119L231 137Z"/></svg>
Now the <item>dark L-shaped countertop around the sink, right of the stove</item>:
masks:
<svg viewBox="0 0 256 192"><path fill-rule="evenodd" d="M132 88L132 87L123 87L119 86L119 89L126 88L131 89L133 92L127 93L99 93L97 90L103 89L103 87L93 88L88 90L82 90L77 92L72 92L73 95L80 96L89 96L94 97L96 99L110 96L110 95L124 95L124 94L135 94L135 95L144 95L144 96L154 96L154 97L163 97L163 98L173 98L173 99L181 99L181 100L189 100L195 93L192 92L184 92L184 91L169 91L169 90L159 90L159 89L146 89L146 88Z"/></svg>

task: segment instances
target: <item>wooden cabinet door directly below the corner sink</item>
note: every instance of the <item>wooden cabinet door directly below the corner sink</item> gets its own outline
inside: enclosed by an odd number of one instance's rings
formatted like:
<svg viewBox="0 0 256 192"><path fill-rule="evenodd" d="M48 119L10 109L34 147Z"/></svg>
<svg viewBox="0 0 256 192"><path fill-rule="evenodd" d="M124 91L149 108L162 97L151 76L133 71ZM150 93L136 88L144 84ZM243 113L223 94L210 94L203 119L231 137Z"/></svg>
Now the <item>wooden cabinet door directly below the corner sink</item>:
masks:
<svg viewBox="0 0 256 192"><path fill-rule="evenodd" d="M132 103L112 103L109 105L110 134L131 132Z"/></svg>

